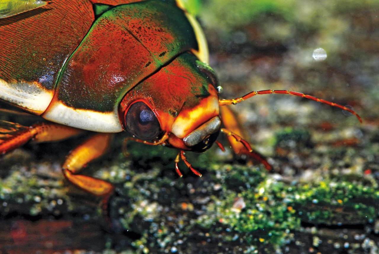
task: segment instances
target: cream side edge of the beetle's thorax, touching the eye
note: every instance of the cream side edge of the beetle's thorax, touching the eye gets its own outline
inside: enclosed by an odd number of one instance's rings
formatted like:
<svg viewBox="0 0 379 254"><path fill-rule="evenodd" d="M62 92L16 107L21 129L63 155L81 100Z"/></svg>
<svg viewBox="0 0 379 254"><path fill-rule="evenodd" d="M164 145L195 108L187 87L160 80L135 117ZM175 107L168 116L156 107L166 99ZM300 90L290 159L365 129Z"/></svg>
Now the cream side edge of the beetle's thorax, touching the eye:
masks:
<svg viewBox="0 0 379 254"><path fill-rule="evenodd" d="M93 132L122 132L118 110L99 112L93 110L74 109L61 102L54 102L42 114L46 120Z"/></svg>

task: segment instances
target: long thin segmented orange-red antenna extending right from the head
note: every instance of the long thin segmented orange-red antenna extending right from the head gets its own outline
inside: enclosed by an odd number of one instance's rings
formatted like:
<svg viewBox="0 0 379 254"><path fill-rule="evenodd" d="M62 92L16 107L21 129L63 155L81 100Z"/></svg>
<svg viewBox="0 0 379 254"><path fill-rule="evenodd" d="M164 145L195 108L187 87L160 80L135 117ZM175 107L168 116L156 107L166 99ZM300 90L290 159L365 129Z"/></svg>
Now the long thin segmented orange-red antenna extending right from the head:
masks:
<svg viewBox="0 0 379 254"><path fill-rule="evenodd" d="M294 92L294 91L288 91L288 90L271 90L271 89L268 89L268 90L262 90L262 91L251 91L250 93L245 94L244 96L242 96L240 98L221 99L221 100L219 100L219 105L220 106L230 105L230 104L235 105L237 103L243 102L246 99L249 99L249 98L251 98L253 96L260 95L260 94L291 94L291 95L294 95L294 96L299 96L299 97L307 98L307 99L310 99L310 100L314 100L316 102L325 103L325 104L327 104L329 106L341 108L342 110L346 110L346 111L352 113L362 123L362 118L359 116L359 114L356 113L356 111L351 110L348 107L342 106L342 105L334 103L334 102L330 102L328 100L320 99L320 98L317 98L317 97L312 96L312 95L303 94L303 93Z"/></svg>

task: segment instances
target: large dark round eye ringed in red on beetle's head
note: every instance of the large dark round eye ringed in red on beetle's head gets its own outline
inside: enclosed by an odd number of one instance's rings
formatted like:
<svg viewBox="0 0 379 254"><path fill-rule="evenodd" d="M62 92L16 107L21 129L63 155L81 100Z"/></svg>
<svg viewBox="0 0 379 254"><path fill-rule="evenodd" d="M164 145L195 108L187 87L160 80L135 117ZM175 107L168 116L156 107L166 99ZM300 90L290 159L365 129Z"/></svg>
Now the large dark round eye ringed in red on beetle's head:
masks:
<svg viewBox="0 0 379 254"><path fill-rule="evenodd" d="M143 102L130 106L125 116L126 129L141 140L152 140L161 133L161 126L154 112Z"/></svg>

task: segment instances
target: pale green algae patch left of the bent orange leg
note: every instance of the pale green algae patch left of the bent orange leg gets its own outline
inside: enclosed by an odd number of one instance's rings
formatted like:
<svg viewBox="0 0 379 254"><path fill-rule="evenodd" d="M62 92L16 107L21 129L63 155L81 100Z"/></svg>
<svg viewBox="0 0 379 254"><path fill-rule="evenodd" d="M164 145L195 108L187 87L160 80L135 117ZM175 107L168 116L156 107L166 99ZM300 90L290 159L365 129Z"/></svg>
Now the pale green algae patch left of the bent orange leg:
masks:
<svg viewBox="0 0 379 254"><path fill-rule="evenodd" d="M36 165L28 170L15 166L0 182L0 212L3 216L13 212L30 216L58 216L63 211L74 210L61 172L46 172L44 167L47 166Z"/></svg>

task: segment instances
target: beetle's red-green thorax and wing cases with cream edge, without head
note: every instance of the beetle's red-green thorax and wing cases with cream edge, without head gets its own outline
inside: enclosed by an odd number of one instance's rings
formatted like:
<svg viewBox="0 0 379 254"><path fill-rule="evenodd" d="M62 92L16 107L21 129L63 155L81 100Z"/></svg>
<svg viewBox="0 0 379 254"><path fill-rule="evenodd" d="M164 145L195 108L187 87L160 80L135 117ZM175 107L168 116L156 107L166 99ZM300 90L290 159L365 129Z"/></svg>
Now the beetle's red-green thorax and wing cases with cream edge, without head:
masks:
<svg viewBox="0 0 379 254"><path fill-rule="evenodd" d="M93 5L58 1L34 10L38 17L23 19L23 13L1 20L17 20L0 28L17 52L16 61L9 61L9 48L0 48L1 99L52 122L121 132L118 109L125 94L180 54L199 49L189 14L175 1L109 6L97 18ZM63 17L70 6L79 6L71 17L51 19ZM51 23L40 27L46 20ZM26 27L32 33L24 36Z"/></svg>

